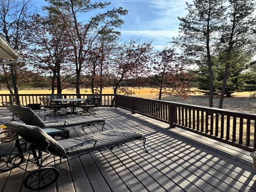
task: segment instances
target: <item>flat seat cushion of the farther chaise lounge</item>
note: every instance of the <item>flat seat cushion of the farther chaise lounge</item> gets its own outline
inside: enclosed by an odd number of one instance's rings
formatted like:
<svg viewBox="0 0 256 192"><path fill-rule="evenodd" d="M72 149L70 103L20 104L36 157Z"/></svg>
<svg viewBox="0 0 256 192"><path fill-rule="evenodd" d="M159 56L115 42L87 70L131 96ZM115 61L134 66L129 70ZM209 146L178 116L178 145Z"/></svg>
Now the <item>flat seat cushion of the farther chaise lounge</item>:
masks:
<svg viewBox="0 0 256 192"><path fill-rule="evenodd" d="M58 121L58 122L56 122L56 121ZM66 121L65 127L76 126L76 125L81 125L81 124L86 125L86 124L105 122L104 119L93 118L93 117L75 117L75 118L56 120L56 121L54 121L54 122L48 121L47 123L44 122L45 124L43 124L43 127L44 128L48 128L48 127L63 127L65 121Z"/></svg>

